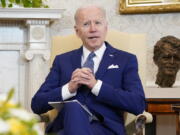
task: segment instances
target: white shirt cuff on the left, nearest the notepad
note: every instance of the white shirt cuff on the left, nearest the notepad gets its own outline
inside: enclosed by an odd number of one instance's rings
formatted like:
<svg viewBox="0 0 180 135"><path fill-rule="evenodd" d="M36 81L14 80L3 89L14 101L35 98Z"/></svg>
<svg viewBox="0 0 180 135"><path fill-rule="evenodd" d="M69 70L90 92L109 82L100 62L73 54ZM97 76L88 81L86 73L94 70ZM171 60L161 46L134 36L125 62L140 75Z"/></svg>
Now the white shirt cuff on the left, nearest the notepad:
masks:
<svg viewBox="0 0 180 135"><path fill-rule="evenodd" d="M73 96L76 96L76 92L74 92L74 93L70 93L69 92L69 89L68 89L68 83L67 84L65 84L63 87L62 87L62 91L61 91L62 93L62 99L63 100L66 100L66 99L69 99L69 98L71 98L71 97L73 97Z"/></svg>

